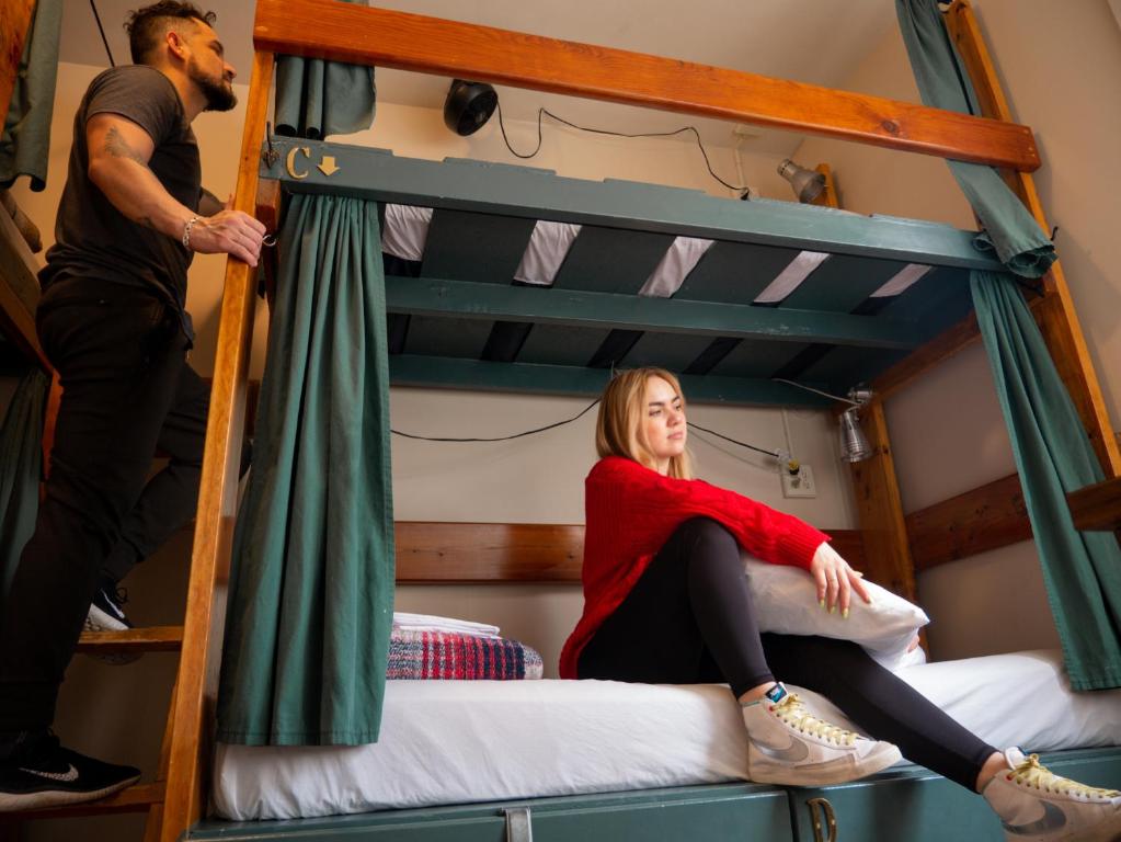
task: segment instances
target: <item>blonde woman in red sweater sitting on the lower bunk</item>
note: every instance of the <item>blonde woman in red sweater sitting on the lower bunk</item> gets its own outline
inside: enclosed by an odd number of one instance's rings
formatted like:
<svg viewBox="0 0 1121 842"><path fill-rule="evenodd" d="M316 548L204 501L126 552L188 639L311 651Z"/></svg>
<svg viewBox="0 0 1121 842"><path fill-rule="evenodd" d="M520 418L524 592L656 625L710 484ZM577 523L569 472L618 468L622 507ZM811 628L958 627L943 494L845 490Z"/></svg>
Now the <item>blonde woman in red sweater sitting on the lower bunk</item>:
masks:
<svg viewBox="0 0 1121 842"><path fill-rule="evenodd" d="M760 633L740 548L806 570L823 610L847 617L861 574L797 518L694 480L685 400L671 373L623 372L600 405L600 461L585 481L584 614L565 678L726 682L743 711L748 777L821 786L900 759L983 793L1009 839L1112 840L1121 793L1059 778L970 733L855 644ZM813 715L776 674L826 695L871 740ZM897 748L897 744L900 748ZM1000 774L998 774L1000 772Z"/></svg>

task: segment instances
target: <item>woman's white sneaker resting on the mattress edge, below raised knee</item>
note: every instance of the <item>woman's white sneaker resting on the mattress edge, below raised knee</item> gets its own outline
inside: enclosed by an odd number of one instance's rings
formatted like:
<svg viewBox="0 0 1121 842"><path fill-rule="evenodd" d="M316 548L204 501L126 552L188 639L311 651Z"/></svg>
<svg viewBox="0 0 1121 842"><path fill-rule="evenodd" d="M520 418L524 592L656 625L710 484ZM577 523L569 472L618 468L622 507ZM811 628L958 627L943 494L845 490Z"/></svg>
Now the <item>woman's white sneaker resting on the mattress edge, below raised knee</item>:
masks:
<svg viewBox="0 0 1121 842"><path fill-rule="evenodd" d="M745 704L748 777L759 784L824 786L872 775L899 762L890 742L877 742L817 719L796 694L776 684Z"/></svg>

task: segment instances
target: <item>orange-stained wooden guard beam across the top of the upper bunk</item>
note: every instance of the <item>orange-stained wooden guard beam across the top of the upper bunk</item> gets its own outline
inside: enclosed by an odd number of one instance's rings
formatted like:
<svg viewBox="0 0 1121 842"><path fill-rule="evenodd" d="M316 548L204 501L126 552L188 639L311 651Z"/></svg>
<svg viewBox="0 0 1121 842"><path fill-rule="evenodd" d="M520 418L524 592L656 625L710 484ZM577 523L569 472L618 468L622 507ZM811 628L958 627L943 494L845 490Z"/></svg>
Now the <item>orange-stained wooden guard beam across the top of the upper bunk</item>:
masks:
<svg viewBox="0 0 1121 842"><path fill-rule="evenodd" d="M387 9L258 0L253 44L277 54L608 100L1016 169L1039 167L1026 126Z"/></svg>

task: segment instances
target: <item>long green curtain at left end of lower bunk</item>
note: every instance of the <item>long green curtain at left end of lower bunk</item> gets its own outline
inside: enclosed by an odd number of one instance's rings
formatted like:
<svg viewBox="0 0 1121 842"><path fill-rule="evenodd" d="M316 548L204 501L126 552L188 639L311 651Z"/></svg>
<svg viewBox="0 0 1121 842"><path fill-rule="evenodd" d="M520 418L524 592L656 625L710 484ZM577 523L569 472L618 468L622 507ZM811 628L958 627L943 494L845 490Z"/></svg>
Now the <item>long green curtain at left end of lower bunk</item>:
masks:
<svg viewBox="0 0 1121 842"><path fill-rule="evenodd" d="M376 742L395 584L377 204L293 196L279 249L219 739Z"/></svg>

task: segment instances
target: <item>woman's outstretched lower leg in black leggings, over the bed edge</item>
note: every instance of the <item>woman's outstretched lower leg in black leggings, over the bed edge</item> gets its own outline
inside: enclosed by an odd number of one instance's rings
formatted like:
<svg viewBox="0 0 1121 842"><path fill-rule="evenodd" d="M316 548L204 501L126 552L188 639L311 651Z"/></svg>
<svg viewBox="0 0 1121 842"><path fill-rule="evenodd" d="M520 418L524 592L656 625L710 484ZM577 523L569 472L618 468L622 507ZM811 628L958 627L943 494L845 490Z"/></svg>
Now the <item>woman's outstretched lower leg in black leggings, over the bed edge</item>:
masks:
<svg viewBox="0 0 1121 842"><path fill-rule="evenodd" d="M763 635L763 651L791 684L827 696L867 733L899 746L912 762L975 790L997 751L849 640Z"/></svg>

